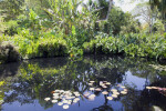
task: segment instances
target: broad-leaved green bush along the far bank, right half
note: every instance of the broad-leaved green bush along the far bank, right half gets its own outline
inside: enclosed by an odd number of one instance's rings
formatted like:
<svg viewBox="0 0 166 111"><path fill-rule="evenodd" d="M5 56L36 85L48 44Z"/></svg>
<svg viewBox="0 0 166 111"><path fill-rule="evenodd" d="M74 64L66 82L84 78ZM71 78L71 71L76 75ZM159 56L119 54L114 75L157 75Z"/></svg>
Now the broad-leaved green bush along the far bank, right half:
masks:
<svg viewBox="0 0 166 111"><path fill-rule="evenodd" d="M95 40L83 44L84 53L123 54L132 57L146 57L166 59L166 40L164 36L136 34L96 37Z"/></svg>

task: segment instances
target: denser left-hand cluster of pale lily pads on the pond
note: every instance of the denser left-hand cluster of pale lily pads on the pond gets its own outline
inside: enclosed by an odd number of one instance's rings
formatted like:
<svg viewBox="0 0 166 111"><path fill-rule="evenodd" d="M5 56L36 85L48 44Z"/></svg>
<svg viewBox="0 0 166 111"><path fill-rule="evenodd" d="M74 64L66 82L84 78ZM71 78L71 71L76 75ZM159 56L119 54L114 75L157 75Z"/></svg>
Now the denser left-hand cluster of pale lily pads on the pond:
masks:
<svg viewBox="0 0 166 111"><path fill-rule="evenodd" d="M81 94L79 92L55 90L52 91L52 99L45 98L45 101L51 101L52 103L58 103L58 105L63 105L63 109L69 109L70 104L76 103L80 101Z"/></svg>

